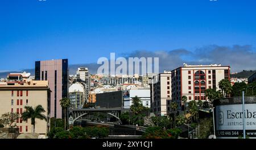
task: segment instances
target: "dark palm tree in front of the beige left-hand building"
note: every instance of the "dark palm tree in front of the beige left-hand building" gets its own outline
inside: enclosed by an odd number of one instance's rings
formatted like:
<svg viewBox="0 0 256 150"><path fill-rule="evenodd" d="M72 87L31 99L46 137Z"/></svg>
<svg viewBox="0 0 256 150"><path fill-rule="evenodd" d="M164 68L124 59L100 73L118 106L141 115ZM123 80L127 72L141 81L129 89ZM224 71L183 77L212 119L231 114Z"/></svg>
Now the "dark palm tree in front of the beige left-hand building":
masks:
<svg viewBox="0 0 256 150"><path fill-rule="evenodd" d="M38 105L33 109L31 106L25 106L26 111L22 113L22 119L27 121L27 119L31 119L31 124L34 127L33 132L35 133L35 119L38 118L40 120L46 120L46 115L42 114L46 111L44 110L42 105Z"/></svg>

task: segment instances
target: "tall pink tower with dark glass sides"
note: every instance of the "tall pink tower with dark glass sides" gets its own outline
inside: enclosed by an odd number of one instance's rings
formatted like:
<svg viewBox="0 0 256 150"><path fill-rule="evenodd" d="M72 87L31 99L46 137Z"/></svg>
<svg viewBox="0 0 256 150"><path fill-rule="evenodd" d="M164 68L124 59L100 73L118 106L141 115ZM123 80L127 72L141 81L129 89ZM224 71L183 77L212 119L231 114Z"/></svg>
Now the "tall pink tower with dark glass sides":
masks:
<svg viewBox="0 0 256 150"><path fill-rule="evenodd" d="M68 98L68 59L36 61L35 80L49 82L51 117L62 118L60 99Z"/></svg>

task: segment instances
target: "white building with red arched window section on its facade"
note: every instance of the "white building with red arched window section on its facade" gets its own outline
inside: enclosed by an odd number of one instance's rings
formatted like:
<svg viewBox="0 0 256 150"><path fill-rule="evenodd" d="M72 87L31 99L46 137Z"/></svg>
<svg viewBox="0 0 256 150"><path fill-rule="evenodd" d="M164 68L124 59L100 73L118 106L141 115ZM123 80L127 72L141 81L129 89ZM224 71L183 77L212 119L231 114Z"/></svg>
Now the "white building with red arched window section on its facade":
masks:
<svg viewBox="0 0 256 150"><path fill-rule="evenodd" d="M218 82L222 79L230 80L230 66L221 64L187 65L172 70L172 101L179 103L185 95L188 102L192 100L207 101L205 90L212 88L219 90Z"/></svg>

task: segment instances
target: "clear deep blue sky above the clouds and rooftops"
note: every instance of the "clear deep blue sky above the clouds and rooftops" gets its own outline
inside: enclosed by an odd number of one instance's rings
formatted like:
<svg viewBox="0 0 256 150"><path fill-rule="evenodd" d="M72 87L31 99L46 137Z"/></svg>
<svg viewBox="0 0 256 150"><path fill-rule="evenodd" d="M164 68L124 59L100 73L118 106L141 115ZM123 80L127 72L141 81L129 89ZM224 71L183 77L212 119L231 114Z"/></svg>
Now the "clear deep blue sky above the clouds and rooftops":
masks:
<svg viewBox="0 0 256 150"><path fill-rule="evenodd" d="M85 64L110 52L207 45L255 52L255 8L254 0L1 0L0 71L34 68L36 60Z"/></svg>

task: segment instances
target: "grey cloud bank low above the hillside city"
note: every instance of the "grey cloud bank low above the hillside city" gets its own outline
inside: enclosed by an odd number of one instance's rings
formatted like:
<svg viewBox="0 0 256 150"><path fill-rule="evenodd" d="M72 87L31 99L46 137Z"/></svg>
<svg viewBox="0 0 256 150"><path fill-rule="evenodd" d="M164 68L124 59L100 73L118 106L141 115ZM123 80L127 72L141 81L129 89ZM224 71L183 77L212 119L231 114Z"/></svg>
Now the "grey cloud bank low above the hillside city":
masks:
<svg viewBox="0 0 256 150"><path fill-rule="evenodd" d="M230 65L232 72L256 70L256 51L251 45L233 45L231 47L207 45L197 48L195 51L188 51L187 49L155 52L141 50L122 54L121 56L125 57L127 62L129 57L159 57L159 72L175 69L179 66L183 66L183 63L191 65ZM106 57L110 59L110 56ZM117 56L115 59L117 59ZM99 66L97 60L95 63L89 64L71 64L69 65L69 73L76 74L77 68L87 67L90 73L95 74ZM34 69L25 69L24 71L34 74ZM9 72L0 72L0 77L6 77Z"/></svg>

